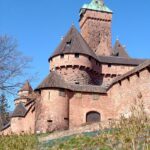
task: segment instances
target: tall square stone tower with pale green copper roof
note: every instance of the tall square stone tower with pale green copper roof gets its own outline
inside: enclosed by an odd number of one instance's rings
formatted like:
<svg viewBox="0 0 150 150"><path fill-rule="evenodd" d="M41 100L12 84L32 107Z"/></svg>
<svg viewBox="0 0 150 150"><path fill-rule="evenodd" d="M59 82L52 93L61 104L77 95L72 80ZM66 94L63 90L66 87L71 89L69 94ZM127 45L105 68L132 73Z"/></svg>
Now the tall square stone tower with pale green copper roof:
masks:
<svg viewBox="0 0 150 150"><path fill-rule="evenodd" d="M83 38L99 56L112 54L112 11L103 0L92 0L80 10L80 29Z"/></svg>

